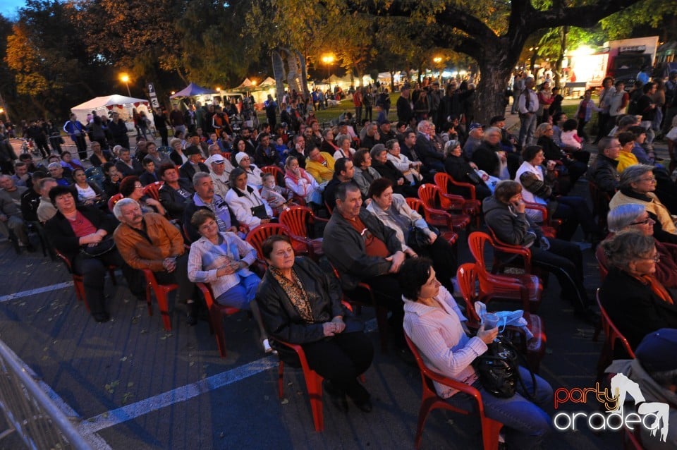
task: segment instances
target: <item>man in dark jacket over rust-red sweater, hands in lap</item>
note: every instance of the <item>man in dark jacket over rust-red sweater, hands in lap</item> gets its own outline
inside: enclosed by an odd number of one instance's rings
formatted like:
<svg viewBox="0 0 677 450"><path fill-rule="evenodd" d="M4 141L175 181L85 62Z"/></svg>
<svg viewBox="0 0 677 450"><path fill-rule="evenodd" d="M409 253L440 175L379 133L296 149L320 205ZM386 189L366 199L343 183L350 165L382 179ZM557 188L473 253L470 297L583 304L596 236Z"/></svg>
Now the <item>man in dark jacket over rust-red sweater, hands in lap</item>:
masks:
<svg viewBox="0 0 677 450"><path fill-rule="evenodd" d="M336 188L336 208L324 229L322 250L338 270L348 297L365 282L377 304L393 312L390 326L402 346L404 310L396 275L405 258L402 244L393 229L361 206L360 188L353 183Z"/></svg>

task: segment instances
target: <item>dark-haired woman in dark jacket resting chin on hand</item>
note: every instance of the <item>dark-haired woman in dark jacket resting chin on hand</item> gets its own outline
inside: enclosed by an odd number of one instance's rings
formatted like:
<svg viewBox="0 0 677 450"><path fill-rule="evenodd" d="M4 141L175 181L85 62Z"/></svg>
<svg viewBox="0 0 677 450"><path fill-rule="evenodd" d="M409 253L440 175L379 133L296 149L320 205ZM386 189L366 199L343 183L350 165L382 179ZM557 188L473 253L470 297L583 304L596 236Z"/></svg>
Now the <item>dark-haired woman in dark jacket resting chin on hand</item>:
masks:
<svg viewBox="0 0 677 450"><path fill-rule="evenodd" d="M578 245L543 236L541 227L525 214L522 185L501 181L492 197L482 202L484 221L499 241L520 245L531 251L531 263L553 273L562 288L561 296L571 301L575 315L597 324L599 317L590 310L590 300L583 285L583 254ZM511 255L498 255L500 259Z"/></svg>

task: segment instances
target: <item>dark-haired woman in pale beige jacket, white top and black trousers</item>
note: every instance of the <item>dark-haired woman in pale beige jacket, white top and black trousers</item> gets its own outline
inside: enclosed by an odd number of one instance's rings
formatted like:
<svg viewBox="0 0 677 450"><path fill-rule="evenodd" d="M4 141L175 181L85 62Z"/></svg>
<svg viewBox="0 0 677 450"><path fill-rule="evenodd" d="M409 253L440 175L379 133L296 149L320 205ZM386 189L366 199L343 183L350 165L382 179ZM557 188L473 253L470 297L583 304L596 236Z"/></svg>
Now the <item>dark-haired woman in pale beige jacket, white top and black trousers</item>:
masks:
<svg viewBox="0 0 677 450"><path fill-rule="evenodd" d="M451 278L456 276L458 266L456 250L444 238L439 237L439 231L430 229L423 217L408 207L402 195L393 193L393 183L387 178L374 181L367 198L372 200L367 206L367 211L394 229L398 241L402 244L402 251L410 257L417 254L431 257L442 284L453 291ZM425 236L426 242L414 243L412 233Z"/></svg>

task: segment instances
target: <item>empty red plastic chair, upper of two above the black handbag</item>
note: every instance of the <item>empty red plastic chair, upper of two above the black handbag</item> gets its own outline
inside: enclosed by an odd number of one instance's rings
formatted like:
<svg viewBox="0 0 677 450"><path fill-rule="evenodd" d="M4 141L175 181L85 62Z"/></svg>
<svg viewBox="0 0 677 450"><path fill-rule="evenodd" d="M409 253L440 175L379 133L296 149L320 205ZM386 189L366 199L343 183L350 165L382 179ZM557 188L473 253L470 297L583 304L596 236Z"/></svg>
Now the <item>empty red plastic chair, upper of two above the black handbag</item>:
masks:
<svg viewBox="0 0 677 450"><path fill-rule="evenodd" d="M488 272L487 262L484 260L484 245L487 243L494 248L494 260L496 260L496 250L523 257L525 274L505 275ZM522 303L525 316L528 316L530 312L537 312L541 304L543 284L538 276L530 273L531 252L528 248L499 245L487 233L480 231L470 233L468 246L472 257L475 258L475 269L477 270L477 278L480 280L480 299L482 302L489 303L489 300L494 298L518 301ZM495 261L493 269L496 269Z"/></svg>

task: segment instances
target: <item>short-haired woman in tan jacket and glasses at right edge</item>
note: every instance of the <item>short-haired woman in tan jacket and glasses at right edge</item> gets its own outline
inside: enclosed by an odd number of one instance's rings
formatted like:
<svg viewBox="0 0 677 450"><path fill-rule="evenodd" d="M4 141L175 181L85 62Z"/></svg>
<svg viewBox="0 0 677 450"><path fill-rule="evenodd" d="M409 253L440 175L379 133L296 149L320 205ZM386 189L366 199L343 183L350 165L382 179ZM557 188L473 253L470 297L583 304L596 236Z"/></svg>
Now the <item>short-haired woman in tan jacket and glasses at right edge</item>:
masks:
<svg viewBox="0 0 677 450"><path fill-rule="evenodd" d="M677 226L675 217L661 203L656 190L654 168L645 164L635 164L623 171L618 192L611 198L611 209L626 203L644 205L649 217L654 219L654 237L661 242L677 244Z"/></svg>

